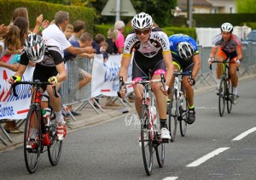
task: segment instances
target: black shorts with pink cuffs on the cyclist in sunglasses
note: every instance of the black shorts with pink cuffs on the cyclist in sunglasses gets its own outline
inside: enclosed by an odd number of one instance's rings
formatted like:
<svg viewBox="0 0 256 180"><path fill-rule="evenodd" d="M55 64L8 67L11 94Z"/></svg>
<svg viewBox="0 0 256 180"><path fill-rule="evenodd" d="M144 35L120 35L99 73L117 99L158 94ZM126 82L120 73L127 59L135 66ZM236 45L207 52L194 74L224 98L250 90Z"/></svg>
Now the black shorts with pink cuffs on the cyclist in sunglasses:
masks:
<svg viewBox="0 0 256 180"><path fill-rule="evenodd" d="M166 74L166 64L161 55L156 55L154 58L147 58L143 54L138 53L134 56L132 62L132 80L139 80L144 76Z"/></svg>

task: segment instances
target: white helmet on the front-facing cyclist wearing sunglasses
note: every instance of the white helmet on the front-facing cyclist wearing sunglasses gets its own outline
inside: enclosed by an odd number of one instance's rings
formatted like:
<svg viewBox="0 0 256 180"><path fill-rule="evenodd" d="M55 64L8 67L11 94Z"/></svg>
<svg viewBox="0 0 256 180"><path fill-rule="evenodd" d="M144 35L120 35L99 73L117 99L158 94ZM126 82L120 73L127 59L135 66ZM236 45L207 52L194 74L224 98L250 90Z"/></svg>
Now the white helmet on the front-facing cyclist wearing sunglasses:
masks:
<svg viewBox="0 0 256 180"><path fill-rule="evenodd" d="M133 29L148 29L152 27L153 20L151 15L144 12L136 14L131 20L131 27Z"/></svg>

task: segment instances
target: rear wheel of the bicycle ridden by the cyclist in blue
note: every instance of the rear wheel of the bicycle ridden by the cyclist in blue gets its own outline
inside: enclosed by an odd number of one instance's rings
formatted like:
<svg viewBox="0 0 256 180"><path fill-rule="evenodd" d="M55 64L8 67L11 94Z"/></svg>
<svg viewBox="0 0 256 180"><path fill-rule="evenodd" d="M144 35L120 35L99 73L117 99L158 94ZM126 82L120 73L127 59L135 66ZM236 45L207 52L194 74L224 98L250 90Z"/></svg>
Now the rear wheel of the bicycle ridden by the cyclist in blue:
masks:
<svg viewBox="0 0 256 180"><path fill-rule="evenodd" d="M179 120L179 130L182 137L187 132L187 120L189 118L189 105L186 96L183 94L183 105L180 107L181 118Z"/></svg>

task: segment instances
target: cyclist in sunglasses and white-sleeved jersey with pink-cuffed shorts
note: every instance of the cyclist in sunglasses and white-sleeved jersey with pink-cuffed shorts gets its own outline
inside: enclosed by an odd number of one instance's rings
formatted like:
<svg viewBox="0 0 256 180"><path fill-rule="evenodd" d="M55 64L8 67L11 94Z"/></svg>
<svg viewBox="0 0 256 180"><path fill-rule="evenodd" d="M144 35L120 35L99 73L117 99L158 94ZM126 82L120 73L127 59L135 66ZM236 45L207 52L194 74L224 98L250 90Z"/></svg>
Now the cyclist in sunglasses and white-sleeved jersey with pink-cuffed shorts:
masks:
<svg viewBox="0 0 256 180"><path fill-rule="evenodd" d="M131 62L132 52L134 52L134 58L132 59L133 81L139 81L143 76L148 76L151 70L152 79L160 79L161 73L166 75L166 90L161 87L161 83L153 83L152 89L159 107L161 138L171 139L170 132L166 128L166 96L173 73L168 37L160 28L153 28L152 17L146 13L136 14L131 20L131 26L133 31L125 39L119 76L123 76L124 81L127 80L127 70ZM124 98L126 91L119 93ZM137 114L140 116L142 111L140 107L140 95L143 94L142 85L136 85L134 93Z"/></svg>

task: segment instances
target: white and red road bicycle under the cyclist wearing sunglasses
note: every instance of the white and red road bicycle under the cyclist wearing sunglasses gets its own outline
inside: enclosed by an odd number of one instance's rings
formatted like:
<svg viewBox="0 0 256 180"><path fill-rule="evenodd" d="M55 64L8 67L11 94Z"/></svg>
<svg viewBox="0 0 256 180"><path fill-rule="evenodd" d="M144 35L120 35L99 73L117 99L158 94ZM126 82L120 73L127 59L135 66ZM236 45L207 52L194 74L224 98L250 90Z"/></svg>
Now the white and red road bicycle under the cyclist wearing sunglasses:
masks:
<svg viewBox="0 0 256 180"><path fill-rule="evenodd" d="M149 80L148 80L149 79ZM160 126L159 126L159 115L156 107L156 98L151 89L151 83L161 82L163 87L165 87L165 77L161 74L160 79L150 80L150 76L143 77L142 81L132 81L132 82L124 82L123 77L119 77L120 89L119 92L122 91L122 87L124 85L143 85L143 96L142 98L142 115L141 115L141 138L139 142L141 143L142 152L143 152L143 164L145 171L148 176L150 176L153 167L153 154L155 152L156 159L158 165L160 167L164 166L165 161L165 143L162 142L160 138ZM156 107L157 108L157 107Z"/></svg>

